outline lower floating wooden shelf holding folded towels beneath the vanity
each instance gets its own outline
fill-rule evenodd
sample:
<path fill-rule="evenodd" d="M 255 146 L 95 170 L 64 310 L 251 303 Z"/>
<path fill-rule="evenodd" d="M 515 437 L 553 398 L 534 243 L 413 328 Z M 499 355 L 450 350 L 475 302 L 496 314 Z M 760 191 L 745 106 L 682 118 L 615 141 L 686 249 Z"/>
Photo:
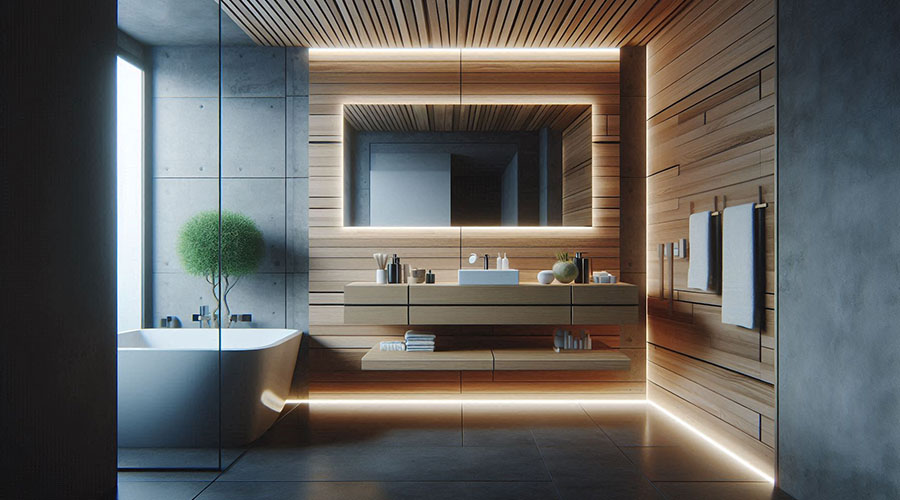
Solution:
<path fill-rule="evenodd" d="M 382 351 L 362 358 L 363 370 L 628 370 L 631 359 L 615 350 L 472 349 L 435 352 Z"/>

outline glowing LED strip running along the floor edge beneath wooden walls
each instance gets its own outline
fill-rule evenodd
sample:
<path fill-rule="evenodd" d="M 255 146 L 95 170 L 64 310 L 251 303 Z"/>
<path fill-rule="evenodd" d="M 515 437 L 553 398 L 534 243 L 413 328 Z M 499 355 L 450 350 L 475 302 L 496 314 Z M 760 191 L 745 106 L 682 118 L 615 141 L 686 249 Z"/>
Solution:
<path fill-rule="evenodd" d="M 648 401 L 646 399 L 288 399 L 287 404 L 308 404 L 310 406 L 351 406 L 351 405 L 458 405 L 458 404 L 491 404 L 491 405 L 560 405 L 560 404 L 601 404 L 610 406 L 626 406 L 626 405 L 647 405 L 653 406 L 667 417 L 678 422 L 697 435 L 700 439 L 706 441 L 713 448 L 731 457 L 735 462 L 746 467 L 754 474 L 769 482 L 775 484 L 775 478 L 753 466 L 747 460 L 741 458 L 738 454 L 721 445 L 718 441 L 707 436 L 702 431 L 685 422 L 681 418 L 675 416 L 669 410 L 662 406 Z"/>

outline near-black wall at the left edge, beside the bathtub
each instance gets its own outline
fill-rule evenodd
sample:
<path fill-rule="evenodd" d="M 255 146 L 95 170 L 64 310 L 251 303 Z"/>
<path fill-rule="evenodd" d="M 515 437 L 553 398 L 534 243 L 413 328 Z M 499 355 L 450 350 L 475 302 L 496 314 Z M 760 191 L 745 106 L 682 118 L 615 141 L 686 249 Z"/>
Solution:
<path fill-rule="evenodd" d="M 0 33 L 0 498 L 114 498 L 116 2 Z"/>

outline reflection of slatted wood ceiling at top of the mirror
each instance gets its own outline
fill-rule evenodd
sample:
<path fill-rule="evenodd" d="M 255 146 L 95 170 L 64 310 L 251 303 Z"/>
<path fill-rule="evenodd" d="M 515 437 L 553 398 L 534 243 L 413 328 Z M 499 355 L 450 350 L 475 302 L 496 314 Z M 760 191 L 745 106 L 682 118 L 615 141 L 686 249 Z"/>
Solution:
<path fill-rule="evenodd" d="M 474 132 L 562 131 L 589 105 L 348 104 L 344 118 L 359 131 Z"/>

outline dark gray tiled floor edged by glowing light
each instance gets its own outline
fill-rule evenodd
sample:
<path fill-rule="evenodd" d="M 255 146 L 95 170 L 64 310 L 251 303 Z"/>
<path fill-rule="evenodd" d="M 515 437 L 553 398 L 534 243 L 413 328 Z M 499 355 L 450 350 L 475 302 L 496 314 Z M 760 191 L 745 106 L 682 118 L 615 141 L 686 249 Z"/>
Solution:
<path fill-rule="evenodd" d="M 643 404 L 313 402 L 222 473 L 122 472 L 119 498 L 788 497 Z"/>

